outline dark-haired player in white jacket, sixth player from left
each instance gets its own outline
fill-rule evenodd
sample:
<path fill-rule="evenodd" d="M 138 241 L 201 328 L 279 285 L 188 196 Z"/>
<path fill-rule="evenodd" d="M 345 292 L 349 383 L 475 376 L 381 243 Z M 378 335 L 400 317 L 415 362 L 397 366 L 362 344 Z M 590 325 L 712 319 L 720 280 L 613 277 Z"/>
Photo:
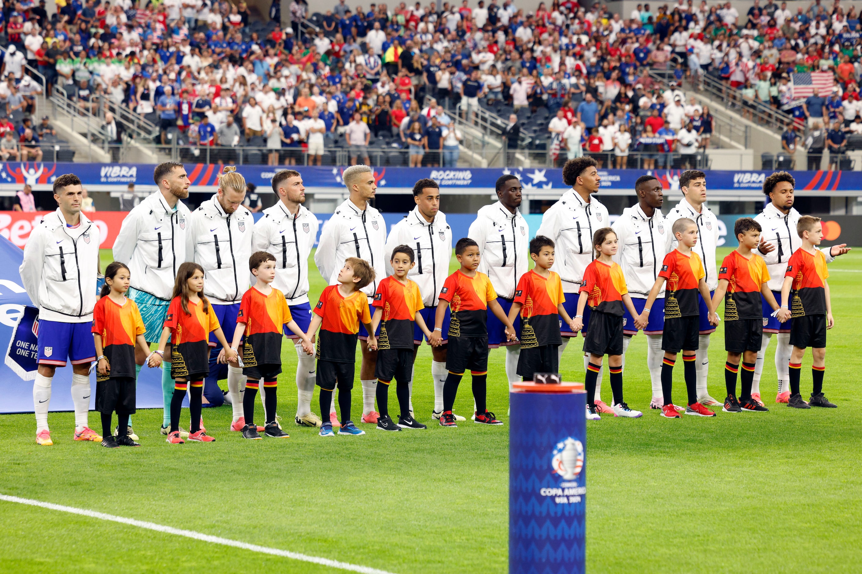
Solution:
<path fill-rule="evenodd" d="M 386 274 L 392 274 L 390 259 L 392 250 L 400 245 L 409 245 L 414 249 L 415 266 L 407 272 L 407 277 L 417 285 L 422 293 L 422 317 L 426 324 L 434 325 L 437 312 L 437 297 L 440 289 L 449 276 L 449 259 L 452 259 L 452 229 L 446 222 L 446 215 L 440 211 L 440 186 L 434 179 L 420 179 L 413 186 L 413 199 L 416 207 L 403 220 L 398 221 L 390 229 L 386 237 L 384 255 L 386 256 Z M 440 418 L 443 412 L 443 384 L 446 383 L 447 340 L 449 337 L 449 309 L 442 326 L 443 345 L 431 347 L 431 378 L 434 381 L 434 410 L 431 416 Z M 418 326 L 413 333 L 413 358 L 415 375 L 415 355 L 422 344 L 422 329 Z M 410 396 L 413 396 L 413 381 L 410 384 Z M 410 403 L 410 410 L 413 404 Z M 455 415 L 459 421 L 464 417 Z"/>

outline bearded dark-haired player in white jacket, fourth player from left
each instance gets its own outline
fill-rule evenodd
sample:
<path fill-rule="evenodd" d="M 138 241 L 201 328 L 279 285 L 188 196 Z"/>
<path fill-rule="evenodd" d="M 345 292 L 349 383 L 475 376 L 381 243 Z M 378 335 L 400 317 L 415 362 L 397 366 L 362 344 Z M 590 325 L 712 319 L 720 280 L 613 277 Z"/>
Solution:
<path fill-rule="evenodd" d="M 272 191 L 278 197 L 278 203 L 264 209 L 264 216 L 254 225 L 253 251 L 265 251 L 275 256 L 272 286 L 284 293 L 290 315 L 306 332 L 311 322 L 308 260 L 317 238 L 317 215 L 303 206 L 305 186 L 299 172 L 276 172 L 272 176 Z M 322 420 L 311 412 L 311 399 L 317 382 L 315 357 L 305 354 L 302 343 L 292 331 L 285 328 L 284 336 L 293 340 L 298 358 L 297 415 L 294 420 L 303 427 L 320 427 Z"/>

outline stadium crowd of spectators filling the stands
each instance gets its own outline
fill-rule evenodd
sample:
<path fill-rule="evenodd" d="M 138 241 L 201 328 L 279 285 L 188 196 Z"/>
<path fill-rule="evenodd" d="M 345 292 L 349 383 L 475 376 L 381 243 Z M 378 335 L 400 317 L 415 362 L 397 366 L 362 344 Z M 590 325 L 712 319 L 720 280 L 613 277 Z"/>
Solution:
<path fill-rule="evenodd" d="M 28 64 L 48 90 L 62 88 L 84 109 L 107 98 L 147 117 L 162 144 L 173 132 L 191 146 L 265 147 L 273 165 L 295 164 L 303 153 L 320 164 L 332 147 L 347 148 L 351 163 L 368 159 L 369 147 L 394 147 L 409 149 L 410 165 L 457 165 L 462 134 L 452 115 L 469 119 L 480 105 L 514 113 L 522 125 L 528 116 L 550 118 L 528 135 L 534 144 L 550 137 L 554 158 L 590 153 L 620 167 L 633 151 L 648 168 L 666 165 L 672 152 L 693 165 L 713 121 L 678 84 L 704 74 L 727 84 L 748 114 L 759 102 L 809 128 L 828 122 L 824 148 L 840 140 L 829 132 L 849 131 L 862 115 L 862 28 L 855 7 L 840 0 L 815 0 L 796 14 L 786 3 L 755 0 L 744 15 L 706 0 L 644 3 L 628 15 L 572 0 L 539 3 L 535 12 L 512 0 L 472 9 L 466 1 L 338 0 L 325 13 L 293 0 L 285 29 L 278 0 L 270 15 L 278 17 L 266 25 L 243 2 L 57 6 L 50 18 L 44 0 L 3 7 L 2 74 L 13 77 L 0 83 L 7 114 L 28 105 L 18 93 L 36 84 L 21 87 Z M 669 89 L 650 68 L 665 71 Z M 790 74 L 805 72 L 832 72 L 833 93 L 795 100 Z M 785 137 L 791 149 L 796 139 Z"/>

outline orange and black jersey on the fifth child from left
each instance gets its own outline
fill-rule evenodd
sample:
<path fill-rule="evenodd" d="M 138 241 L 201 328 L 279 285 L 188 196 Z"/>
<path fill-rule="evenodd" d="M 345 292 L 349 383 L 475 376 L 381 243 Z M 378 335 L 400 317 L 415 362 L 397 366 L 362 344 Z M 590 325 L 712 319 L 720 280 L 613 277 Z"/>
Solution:
<path fill-rule="evenodd" d="M 412 349 L 416 312 L 425 308 L 419 285 L 409 279 L 405 285 L 390 275 L 378 284 L 372 304 L 383 309 L 378 349 Z"/>

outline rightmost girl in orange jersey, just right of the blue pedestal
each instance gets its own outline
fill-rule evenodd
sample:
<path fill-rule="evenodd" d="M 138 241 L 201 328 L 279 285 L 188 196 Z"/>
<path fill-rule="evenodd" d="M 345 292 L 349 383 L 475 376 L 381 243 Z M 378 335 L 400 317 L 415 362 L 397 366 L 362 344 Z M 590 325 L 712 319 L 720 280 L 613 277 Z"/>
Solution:
<path fill-rule="evenodd" d="M 584 308 L 590 305 L 590 330 L 584 337 L 584 353 L 590 354 L 584 385 L 587 390 L 588 421 L 602 418 L 596 409 L 596 380 L 604 355 L 608 355 L 610 388 L 614 393 L 611 409 L 614 409 L 614 415 L 634 419 L 643 415 L 639 410 L 629 409 L 622 399 L 623 305 L 633 317 L 640 315 L 634 309 L 632 298 L 628 296 L 622 267 L 611 259 L 616 254 L 617 242 L 616 234 L 611 228 L 597 229 L 593 234 L 596 259 L 584 270 L 584 281 L 581 283 L 578 298 L 578 315 L 575 315 L 572 321 L 572 331 L 584 328 Z M 641 328 L 646 322 L 642 325 L 640 321 L 635 324 Z"/>

